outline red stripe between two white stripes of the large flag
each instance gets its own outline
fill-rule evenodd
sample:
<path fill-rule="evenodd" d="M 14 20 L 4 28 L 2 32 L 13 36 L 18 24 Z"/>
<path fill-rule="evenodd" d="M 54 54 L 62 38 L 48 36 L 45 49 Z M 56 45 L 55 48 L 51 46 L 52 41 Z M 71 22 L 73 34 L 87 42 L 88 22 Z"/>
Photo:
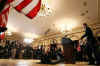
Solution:
<path fill-rule="evenodd" d="M 32 0 L 24 0 L 23 2 L 21 2 L 19 5 L 17 5 L 15 7 L 15 9 L 17 9 L 19 12 L 22 11 L 23 8 L 29 6 L 29 4 L 31 4 Z M 33 5 L 33 4 L 32 4 Z"/>

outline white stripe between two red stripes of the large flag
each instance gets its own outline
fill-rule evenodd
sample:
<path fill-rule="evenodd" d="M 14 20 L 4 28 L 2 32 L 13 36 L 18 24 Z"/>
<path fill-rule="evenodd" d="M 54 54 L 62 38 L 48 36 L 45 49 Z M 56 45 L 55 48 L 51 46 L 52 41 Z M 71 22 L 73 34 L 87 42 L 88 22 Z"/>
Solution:
<path fill-rule="evenodd" d="M 37 4 L 39 3 L 39 0 L 33 0 L 28 6 L 26 6 L 22 12 L 24 14 L 28 14 L 34 7 L 37 6 Z"/>

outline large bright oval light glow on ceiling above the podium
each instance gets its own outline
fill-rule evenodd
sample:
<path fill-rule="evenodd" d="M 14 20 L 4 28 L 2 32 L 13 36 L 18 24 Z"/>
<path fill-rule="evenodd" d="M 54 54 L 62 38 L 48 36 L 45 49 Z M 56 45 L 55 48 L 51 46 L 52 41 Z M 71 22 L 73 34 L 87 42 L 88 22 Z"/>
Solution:
<path fill-rule="evenodd" d="M 73 28 L 77 27 L 77 21 L 74 19 L 62 19 L 57 21 L 56 27 L 61 31 L 71 31 Z"/>

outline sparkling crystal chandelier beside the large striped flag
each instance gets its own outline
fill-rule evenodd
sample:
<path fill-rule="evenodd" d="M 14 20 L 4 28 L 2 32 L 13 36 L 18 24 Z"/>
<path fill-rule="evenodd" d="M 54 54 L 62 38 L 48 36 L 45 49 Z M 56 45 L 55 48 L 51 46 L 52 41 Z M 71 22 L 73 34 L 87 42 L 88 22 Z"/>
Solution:
<path fill-rule="evenodd" d="M 38 16 L 50 16 L 51 13 L 52 13 L 52 9 L 48 5 L 48 1 L 47 0 L 42 0 L 41 8 L 40 8 L 40 11 L 38 13 Z"/>

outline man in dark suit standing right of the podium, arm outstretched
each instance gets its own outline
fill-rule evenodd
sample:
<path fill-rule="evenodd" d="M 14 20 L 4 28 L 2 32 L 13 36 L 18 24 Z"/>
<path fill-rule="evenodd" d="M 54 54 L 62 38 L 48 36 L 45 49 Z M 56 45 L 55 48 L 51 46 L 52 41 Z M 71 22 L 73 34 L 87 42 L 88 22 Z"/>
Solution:
<path fill-rule="evenodd" d="M 87 37 L 86 50 L 87 50 L 87 55 L 89 58 L 89 64 L 92 65 L 92 64 L 95 64 L 95 58 L 93 57 L 92 53 L 95 54 L 96 40 L 93 36 L 93 32 L 91 28 L 86 23 L 83 24 L 83 27 L 85 29 L 85 34 L 81 37 L 81 39 L 83 39 L 84 37 Z"/>

